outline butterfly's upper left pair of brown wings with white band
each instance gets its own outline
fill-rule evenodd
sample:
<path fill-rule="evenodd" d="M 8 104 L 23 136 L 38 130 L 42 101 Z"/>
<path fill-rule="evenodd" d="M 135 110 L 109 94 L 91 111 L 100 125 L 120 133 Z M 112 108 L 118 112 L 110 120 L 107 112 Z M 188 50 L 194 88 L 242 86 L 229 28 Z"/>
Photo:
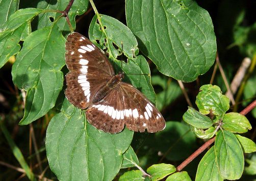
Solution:
<path fill-rule="evenodd" d="M 70 70 L 65 95 L 74 106 L 86 109 L 114 75 L 113 67 L 101 50 L 79 33 L 68 35 L 65 60 Z"/>

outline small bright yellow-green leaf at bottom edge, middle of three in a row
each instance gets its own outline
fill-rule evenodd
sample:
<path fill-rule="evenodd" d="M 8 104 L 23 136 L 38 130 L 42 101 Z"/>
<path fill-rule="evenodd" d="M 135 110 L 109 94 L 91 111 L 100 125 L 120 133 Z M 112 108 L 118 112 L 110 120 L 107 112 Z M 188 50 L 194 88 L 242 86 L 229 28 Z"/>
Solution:
<path fill-rule="evenodd" d="M 174 173 L 176 168 L 170 164 L 155 164 L 147 168 L 147 173 L 151 175 L 151 180 L 161 180 L 167 175 Z"/>

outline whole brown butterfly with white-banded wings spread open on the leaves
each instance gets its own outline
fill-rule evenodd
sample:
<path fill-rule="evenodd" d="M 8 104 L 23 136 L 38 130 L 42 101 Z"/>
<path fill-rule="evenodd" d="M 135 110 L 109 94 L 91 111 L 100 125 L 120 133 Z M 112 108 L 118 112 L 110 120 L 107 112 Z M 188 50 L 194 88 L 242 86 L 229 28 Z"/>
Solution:
<path fill-rule="evenodd" d="M 165 120 L 155 106 L 131 84 L 121 82 L 103 51 L 79 33 L 66 41 L 65 95 L 75 107 L 86 110 L 86 119 L 98 130 L 119 133 L 124 125 L 135 132 L 164 129 Z"/>

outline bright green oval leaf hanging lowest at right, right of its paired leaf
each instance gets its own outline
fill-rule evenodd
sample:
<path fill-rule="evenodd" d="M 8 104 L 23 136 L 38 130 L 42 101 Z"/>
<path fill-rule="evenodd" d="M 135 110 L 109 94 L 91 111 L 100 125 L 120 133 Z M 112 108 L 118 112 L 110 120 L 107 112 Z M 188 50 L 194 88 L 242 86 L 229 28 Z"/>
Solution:
<path fill-rule="evenodd" d="M 236 136 L 219 131 L 215 140 L 215 154 L 219 173 L 223 179 L 239 179 L 244 170 L 244 155 Z"/>

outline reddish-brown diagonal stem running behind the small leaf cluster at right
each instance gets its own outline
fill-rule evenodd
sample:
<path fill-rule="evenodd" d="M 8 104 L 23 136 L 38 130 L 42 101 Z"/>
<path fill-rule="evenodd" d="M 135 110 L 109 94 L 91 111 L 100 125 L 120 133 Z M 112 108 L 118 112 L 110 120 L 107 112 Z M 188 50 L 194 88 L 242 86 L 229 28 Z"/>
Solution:
<path fill-rule="evenodd" d="M 253 108 L 256 107 L 256 100 L 254 100 L 249 106 L 247 106 L 243 111 L 240 112 L 242 115 L 246 115 L 248 112 L 250 112 Z M 206 143 L 204 143 L 200 148 L 198 148 L 194 153 L 191 154 L 184 162 L 181 163 L 181 165 L 177 166 L 176 170 L 180 172 L 184 167 L 186 167 L 192 160 L 194 160 L 201 152 L 206 150 L 208 146 L 210 146 L 215 140 L 214 138 L 211 138 Z"/>

